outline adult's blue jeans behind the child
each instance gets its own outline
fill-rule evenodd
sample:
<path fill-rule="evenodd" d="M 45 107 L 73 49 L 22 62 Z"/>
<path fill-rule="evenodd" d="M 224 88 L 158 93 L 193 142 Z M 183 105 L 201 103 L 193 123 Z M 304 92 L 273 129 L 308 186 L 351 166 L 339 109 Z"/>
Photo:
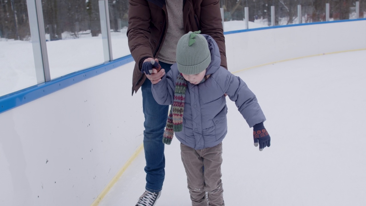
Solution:
<path fill-rule="evenodd" d="M 171 64 L 159 62 L 161 68 L 168 73 Z M 143 126 L 143 147 L 145 150 L 145 172 L 146 172 L 146 190 L 150 192 L 159 192 L 163 188 L 165 176 L 165 157 L 163 134 L 167 124 L 168 105 L 158 104 L 151 92 L 151 82 L 146 79 L 141 86 L 142 108 L 145 115 Z"/>

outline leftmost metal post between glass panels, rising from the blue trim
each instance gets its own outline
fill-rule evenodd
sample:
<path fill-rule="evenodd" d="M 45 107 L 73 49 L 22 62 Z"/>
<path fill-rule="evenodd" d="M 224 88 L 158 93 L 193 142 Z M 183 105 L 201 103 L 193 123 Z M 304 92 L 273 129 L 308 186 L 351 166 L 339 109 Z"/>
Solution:
<path fill-rule="evenodd" d="M 41 0 L 27 0 L 27 10 L 37 83 L 51 80 Z"/>

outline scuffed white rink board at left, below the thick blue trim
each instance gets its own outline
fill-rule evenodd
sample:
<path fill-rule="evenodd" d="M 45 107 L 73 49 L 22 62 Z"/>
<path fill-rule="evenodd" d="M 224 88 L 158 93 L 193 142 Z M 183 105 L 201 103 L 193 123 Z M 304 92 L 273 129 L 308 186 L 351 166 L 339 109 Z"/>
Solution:
<path fill-rule="evenodd" d="M 0 205 L 94 201 L 142 143 L 141 92 L 131 96 L 133 66 L 0 114 Z"/>

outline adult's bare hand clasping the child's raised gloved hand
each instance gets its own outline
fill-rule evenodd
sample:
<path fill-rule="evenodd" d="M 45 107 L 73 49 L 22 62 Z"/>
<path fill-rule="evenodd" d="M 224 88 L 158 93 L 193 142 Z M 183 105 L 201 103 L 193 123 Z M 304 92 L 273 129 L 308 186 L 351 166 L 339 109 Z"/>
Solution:
<path fill-rule="evenodd" d="M 158 71 L 159 68 L 158 59 L 147 58 L 142 63 L 141 72 L 145 73 L 146 77 L 151 81 L 151 84 L 156 84 L 161 80 L 161 77 L 165 75 L 165 69 Z"/>

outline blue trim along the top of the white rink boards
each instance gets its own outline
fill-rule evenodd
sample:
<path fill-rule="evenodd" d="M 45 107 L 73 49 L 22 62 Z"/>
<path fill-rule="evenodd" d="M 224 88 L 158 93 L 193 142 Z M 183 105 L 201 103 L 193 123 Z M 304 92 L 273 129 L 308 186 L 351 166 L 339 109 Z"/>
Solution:
<path fill-rule="evenodd" d="M 331 22 L 313 22 L 313 23 L 302 23 L 302 24 L 293 24 L 293 25 L 283 25 L 283 26 L 268 26 L 268 27 L 260 27 L 255 29 L 243 29 L 236 31 L 224 32 L 224 34 L 235 34 L 242 32 L 251 32 L 265 29 L 277 29 L 284 27 L 292 27 L 292 26 L 306 26 L 306 25 L 316 25 L 323 23 L 338 23 L 338 22 L 350 22 L 350 21 L 365 21 L 366 18 L 363 19 L 348 19 L 348 20 L 339 20 L 339 21 L 331 21 Z M 44 82 L 32 87 L 28 87 L 4 96 L 0 96 L 0 113 L 4 111 L 10 110 L 12 108 L 18 107 L 22 104 L 26 104 L 42 96 L 46 96 L 50 93 L 59 91 L 60 89 L 66 88 L 75 83 L 86 80 L 87 78 L 97 76 L 98 74 L 104 73 L 106 71 L 115 69 L 119 66 L 125 65 L 127 63 L 133 62 L 134 59 L 131 55 L 127 55 L 118 59 L 115 59 L 111 62 L 103 63 L 101 65 L 93 66 L 87 69 L 83 69 L 80 71 L 76 71 L 74 73 L 67 74 L 62 77 L 55 78 L 51 81 Z"/>

